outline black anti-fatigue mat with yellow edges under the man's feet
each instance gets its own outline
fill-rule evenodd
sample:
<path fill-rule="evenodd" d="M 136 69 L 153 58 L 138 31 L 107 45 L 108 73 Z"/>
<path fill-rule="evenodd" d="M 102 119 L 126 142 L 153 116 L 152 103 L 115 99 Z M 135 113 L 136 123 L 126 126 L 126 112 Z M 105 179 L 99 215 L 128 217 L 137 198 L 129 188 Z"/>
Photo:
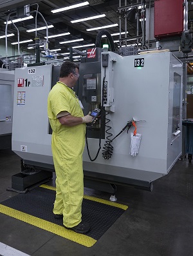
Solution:
<path fill-rule="evenodd" d="M 52 233 L 57 233 L 57 235 L 62 233 L 62 237 L 90 247 L 127 209 L 127 206 L 123 204 L 85 196 L 82 202 L 82 221 L 89 222 L 91 230 L 86 235 L 80 235 L 71 230 L 66 230 L 62 226 L 62 219 L 53 217 L 54 201 L 55 188 L 42 185 L 42 187 L 35 188 L 28 193 L 15 195 L 15 197 L 1 202 L 0 212 Z M 11 214 L 9 214 L 10 211 Z M 24 219 L 22 219 L 22 215 L 24 215 Z M 18 216 L 20 217 L 18 218 Z M 51 228 L 51 224 L 55 228 Z M 60 232 L 54 230 L 60 230 Z M 67 235 L 65 235 L 66 233 Z M 84 242 L 84 238 L 86 238 L 86 242 Z"/>

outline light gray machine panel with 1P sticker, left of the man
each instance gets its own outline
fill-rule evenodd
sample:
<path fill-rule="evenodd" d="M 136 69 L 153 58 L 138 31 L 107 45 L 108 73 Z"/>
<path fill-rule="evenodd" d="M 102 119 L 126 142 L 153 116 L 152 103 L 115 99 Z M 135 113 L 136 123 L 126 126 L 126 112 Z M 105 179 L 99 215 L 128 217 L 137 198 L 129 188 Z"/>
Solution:
<path fill-rule="evenodd" d="M 51 65 L 15 70 L 12 150 L 23 159 L 53 162 L 47 114 L 51 70 Z"/>

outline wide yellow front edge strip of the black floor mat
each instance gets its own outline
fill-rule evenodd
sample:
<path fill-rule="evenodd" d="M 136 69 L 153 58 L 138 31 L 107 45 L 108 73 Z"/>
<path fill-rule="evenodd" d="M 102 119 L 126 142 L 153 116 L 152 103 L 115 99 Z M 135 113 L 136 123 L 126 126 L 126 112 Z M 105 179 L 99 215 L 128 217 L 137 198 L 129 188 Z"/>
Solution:
<path fill-rule="evenodd" d="M 44 221 L 42 219 L 39 219 L 39 218 L 29 215 L 27 213 L 23 213 L 23 212 L 14 210 L 14 209 L 4 206 L 2 204 L 0 204 L 0 212 L 4 213 L 10 217 L 13 217 L 15 219 L 19 219 L 20 221 L 24 221 L 33 226 L 37 226 L 38 228 L 41 228 L 42 230 L 50 231 L 51 233 L 59 235 L 60 237 L 64 237 L 71 241 L 77 242 L 78 244 L 82 244 L 86 247 L 91 247 L 96 242 L 95 239 L 93 239 L 91 237 L 87 237 L 87 235 L 82 235 L 82 234 L 75 233 L 74 231 L 71 231 L 71 230 L 66 230 L 62 226 L 51 223 L 49 221 Z"/>

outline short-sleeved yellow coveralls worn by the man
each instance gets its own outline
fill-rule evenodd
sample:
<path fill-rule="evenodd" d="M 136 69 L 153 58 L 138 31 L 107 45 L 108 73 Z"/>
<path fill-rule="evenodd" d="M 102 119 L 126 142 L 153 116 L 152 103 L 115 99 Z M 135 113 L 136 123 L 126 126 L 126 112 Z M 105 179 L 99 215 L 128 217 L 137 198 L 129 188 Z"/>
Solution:
<path fill-rule="evenodd" d="M 56 198 L 54 214 L 63 214 L 63 224 L 72 228 L 81 222 L 84 182 L 82 153 L 85 145 L 85 124 L 65 126 L 57 114 L 67 111 L 83 117 L 75 92 L 64 83 L 57 82 L 48 95 L 48 117 L 53 130 L 51 150 L 56 172 Z"/>

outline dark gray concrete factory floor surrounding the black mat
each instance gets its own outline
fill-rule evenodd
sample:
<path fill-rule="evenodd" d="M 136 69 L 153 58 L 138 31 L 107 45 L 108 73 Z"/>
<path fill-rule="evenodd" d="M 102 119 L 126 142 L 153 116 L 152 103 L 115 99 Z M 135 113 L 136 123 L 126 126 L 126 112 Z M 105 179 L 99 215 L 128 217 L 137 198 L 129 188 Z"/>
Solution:
<path fill-rule="evenodd" d="M 11 150 L 0 150 L 0 163 L 2 202 L 17 195 L 6 188 L 11 187 L 12 175 L 20 172 L 20 159 Z M 152 192 L 118 186 L 117 202 L 129 208 L 90 248 L 0 213 L 0 255 L 191 256 L 192 166 L 178 160 L 168 175 L 154 181 Z M 48 184 L 55 184 L 54 177 Z M 87 188 L 85 193 L 106 200 L 110 196 Z"/>

